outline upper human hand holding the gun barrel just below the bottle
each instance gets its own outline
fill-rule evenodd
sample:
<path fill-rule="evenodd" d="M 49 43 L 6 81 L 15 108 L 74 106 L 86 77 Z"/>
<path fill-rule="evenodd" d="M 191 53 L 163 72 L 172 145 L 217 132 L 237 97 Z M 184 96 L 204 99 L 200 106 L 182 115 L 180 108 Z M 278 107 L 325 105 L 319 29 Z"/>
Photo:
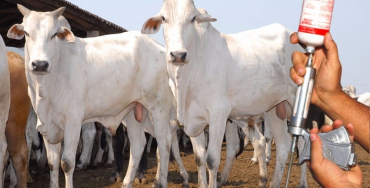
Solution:
<path fill-rule="evenodd" d="M 297 33 L 290 36 L 290 43 L 299 43 Z M 306 45 L 299 43 L 302 48 Z M 303 76 L 306 73 L 307 55 L 302 52 L 293 52 L 293 67 L 290 68 L 290 78 L 297 84 L 302 85 Z M 313 67 L 316 68 L 316 81 L 313 87 L 311 103 L 322 109 L 326 103 L 336 99 L 336 96 L 344 94 L 341 90 L 341 62 L 339 62 L 338 49 L 328 32 L 325 34 L 324 46 L 317 47 L 313 55 Z"/>

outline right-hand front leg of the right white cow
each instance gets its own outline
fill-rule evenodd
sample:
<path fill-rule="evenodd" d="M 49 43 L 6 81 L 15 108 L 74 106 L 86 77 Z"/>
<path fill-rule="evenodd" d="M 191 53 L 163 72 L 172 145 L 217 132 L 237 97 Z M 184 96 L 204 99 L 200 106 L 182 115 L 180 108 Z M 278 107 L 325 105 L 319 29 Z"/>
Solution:
<path fill-rule="evenodd" d="M 215 113 L 217 114 L 217 113 Z M 212 115 L 211 115 L 212 117 Z M 209 142 L 206 154 L 206 164 L 209 172 L 209 187 L 217 185 L 223 135 L 225 134 L 228 116 L 217 115 L 209 120 Z"/>

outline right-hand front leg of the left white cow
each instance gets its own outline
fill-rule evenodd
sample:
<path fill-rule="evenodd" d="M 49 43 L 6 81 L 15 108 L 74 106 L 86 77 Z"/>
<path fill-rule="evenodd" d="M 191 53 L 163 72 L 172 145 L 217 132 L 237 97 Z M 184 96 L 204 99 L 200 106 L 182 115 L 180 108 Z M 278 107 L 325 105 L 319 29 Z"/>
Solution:
<path fill-rule="evenodd" d="M 64 151 L 61 157 L 61 168 L 66 178 L 66 188 L 73 187 L 73 171 L 77 145 L 80 140 L 81 121 L 67 123 L 64 132 Z"/>

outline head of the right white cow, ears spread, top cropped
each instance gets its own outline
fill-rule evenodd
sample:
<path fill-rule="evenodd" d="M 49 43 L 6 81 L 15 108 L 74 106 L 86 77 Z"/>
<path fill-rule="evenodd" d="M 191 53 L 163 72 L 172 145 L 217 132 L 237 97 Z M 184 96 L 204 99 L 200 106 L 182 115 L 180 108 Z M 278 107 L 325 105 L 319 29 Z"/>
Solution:
<path fill-rule="evenodd" d="M 205 10 L 197 9 L 191 0 L 165 0 L 161 11 L 142 26 L 142 34 L 155 34 L 163 24 L 167 46 L 167 61 L 173 64 L 188 62 L 188 49 L 194 41 L 195 24 L 214 22 Z"/>

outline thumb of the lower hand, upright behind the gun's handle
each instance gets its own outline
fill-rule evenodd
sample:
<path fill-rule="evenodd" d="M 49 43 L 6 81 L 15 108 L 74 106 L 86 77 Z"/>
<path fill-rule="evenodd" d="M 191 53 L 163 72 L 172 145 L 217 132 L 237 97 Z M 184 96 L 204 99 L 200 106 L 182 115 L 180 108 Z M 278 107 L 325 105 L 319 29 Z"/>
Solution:
<path fill-rule="evenodd" d="M 323 164 L 324 156 L 323 156 L 323 143 L 318 137 L 317 133 L 310 134 L 311 140 L 311 168 L 318 169 L 321 168 L 321 164 Z"/>

